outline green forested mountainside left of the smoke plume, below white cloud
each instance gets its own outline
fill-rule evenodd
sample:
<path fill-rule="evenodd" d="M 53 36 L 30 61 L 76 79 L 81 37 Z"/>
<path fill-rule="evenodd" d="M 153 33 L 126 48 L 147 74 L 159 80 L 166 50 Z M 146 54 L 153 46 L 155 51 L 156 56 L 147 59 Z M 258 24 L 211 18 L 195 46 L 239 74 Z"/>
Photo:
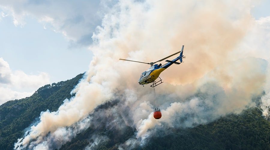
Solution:
<path fill-rule="evenodd" d="M 13 149 L 14 143 L 24 135 L 42 111 L 56 111 L 63 100 L 70 98 L 70 91 L 78 84 L 83 74 L 75 78 L 44 85 L 32 96 L 8 101 L 0 106 L 0 149 Z"/>

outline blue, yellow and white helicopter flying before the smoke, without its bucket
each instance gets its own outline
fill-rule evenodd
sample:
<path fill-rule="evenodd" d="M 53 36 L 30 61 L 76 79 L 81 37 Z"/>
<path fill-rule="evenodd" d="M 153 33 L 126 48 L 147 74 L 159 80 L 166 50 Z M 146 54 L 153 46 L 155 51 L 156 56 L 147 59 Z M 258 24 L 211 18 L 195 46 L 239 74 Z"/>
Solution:
<path fill-rule="evenodd" d="M 151 67 L 148 68 L 148 70 L 144 71 L 141 74 L 140 79 L 139 79 L 138 82 L 139 82 L 140 85 L 143 85 L 143 86 L 145 84 L 152 83 L 152 85 L 150 85 L 150 86 L 151 87 L 155 87 L 155 86 L 163 83 L 162 82 L 162 79 L 159 77 L 159 75 L 160 75 L 160 73 L 162 71 L 164 71 L 165 69 L 167 69 L 168 67 L 170 67 L 172 64 L 181 64 L 183 62 L 182 58 L 185 58 L 185 56 L 183 56 L 183 50 L 184 50 L 184 45 L 182 46 L 181 51 L 176 52 L 176 53 L 174 53 L 174 54 L 172 54 L 170 56 L 167 56 L 167 57 L 165 57 L 165 58 L 163 58 L 161 60 L 158 60 L 158 61 L 155 61 L 155 62 L 149 62 L 149 63 L 147 63 L 147 62 L 141 62 L 141 61 L 133 61 L 133 60 L 121 59 L 121 58 L 119 60 L 133 61 L 133 62 L 139 62 L 139 63 L 144 63 L 144 64 L 150 64 Z M 180 53 L 180 55 L 177 58 L 175 58 L 173 60 L 166 60 L 167 63 L 164 64 L 164 65 L 162 65 L 162 64 L 155 64 L 155 63 L 157 63 L 159 61 L 163 61 L 163 60 L 165 60 L 165 59 L 167 59 L 167 58 L 169 58 L 169 57 L 171 57 L 173 55 L 176 55 L 178 53 Z M 180 62 L 176 62 L 178 60 Z M 156 79 L 158 79 L 158 80 L 155 81 Z"/>

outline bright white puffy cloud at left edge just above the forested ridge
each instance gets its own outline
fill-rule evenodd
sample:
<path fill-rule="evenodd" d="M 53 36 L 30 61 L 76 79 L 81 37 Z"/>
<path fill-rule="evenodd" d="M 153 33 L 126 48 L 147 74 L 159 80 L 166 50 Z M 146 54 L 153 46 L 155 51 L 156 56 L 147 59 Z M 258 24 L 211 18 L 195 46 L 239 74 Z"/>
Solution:
<path fill-rule="evenodd" d="M 35 90 L 49 82 L 47 73 L 28 75 L 21 70 L 12 71 L 7 61 L 0 58 L 0 104 L 31 96 Z"/>

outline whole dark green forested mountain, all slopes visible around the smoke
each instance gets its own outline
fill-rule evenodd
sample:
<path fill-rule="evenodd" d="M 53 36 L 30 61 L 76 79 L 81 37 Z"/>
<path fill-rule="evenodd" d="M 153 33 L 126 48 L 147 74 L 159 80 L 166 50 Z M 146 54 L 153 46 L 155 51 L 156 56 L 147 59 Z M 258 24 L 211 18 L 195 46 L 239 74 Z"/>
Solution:
<path fill-rule="evenodd" d="M 0 149 L 13 149 L 25 129 L 37 122 L 42 111 L 56 111 L 63 100 L 70 98 L 70 91 L 83 74 L 75 78 L 45 85 L 32 96 L 8 101 L 0 106 Z M 136 139 L 136 128 L 128 125 L 123 112 L 104 115 L 119 100 L 109 101 L 89 114 L 96 124 L 75 135 L 60 149 L 118 149 L 128 139 Z M 130 120 L 131 124 L 132 120 Z M 121 128 L 119 128 L 121 126 Z M 161 127 L 162 128 L 162 127 Z M 96 140 L 99 140 L 97 143 Z M 143 145 L 134 143 L 133 149 L 270 149 L 270 122 L 262 111 L 249 108 L 241 114 L 228 114 L 214 122 L 194 128 L 168 128 L 160 130 L 145 140 Z"/>

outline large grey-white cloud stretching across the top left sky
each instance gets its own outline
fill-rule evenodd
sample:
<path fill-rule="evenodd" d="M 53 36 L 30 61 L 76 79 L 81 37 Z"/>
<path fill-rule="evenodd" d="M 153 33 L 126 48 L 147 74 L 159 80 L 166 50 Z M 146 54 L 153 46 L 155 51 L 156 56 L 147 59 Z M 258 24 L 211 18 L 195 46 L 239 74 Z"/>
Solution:
<path fill-rule="evenodd" d="M 34 16 L 55 32 L 62 33 L 71 44 L 91 44 L 92 33 L 101 23 L 100 1 L 1 1 L 3 13 L 13 17 L 15 26 L 24 26 L 25 16 Z"/>

